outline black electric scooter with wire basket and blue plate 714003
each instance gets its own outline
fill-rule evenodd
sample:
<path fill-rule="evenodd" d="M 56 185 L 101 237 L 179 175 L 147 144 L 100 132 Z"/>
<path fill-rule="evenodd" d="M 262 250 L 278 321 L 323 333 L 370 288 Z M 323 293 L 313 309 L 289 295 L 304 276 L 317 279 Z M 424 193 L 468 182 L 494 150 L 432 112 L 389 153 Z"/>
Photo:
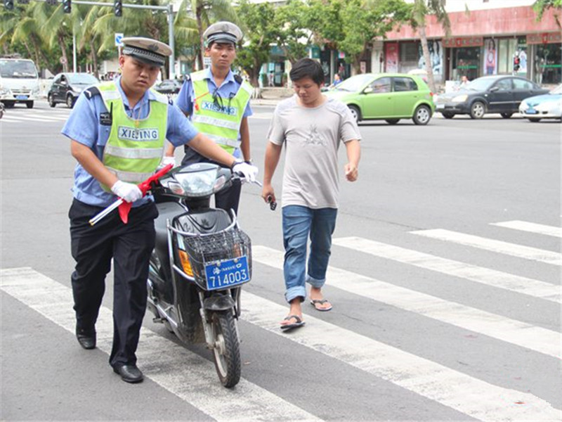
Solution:
<path fill-rule="evenodd" d="M 209 203 L 237 178 L 218 165 L 198 163 L 159 179 L 152 188 L 159 217 L 148 275 L 154 321 L 184 343 L 207 343 L 228 388 L 240 381 L 237 320 L 242 285 L 251 279 L 251 242 L 235 212 Z"/>

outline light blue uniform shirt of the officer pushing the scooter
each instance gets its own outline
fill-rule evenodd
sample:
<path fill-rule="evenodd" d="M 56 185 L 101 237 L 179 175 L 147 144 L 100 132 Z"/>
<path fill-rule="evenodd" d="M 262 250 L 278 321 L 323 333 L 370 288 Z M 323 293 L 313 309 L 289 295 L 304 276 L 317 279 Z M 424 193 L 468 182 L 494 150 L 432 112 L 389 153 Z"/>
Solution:
<path fill-rule="evenodd" d="M 121 94 L 125 111 L 129 117 L 135 119 L 145 119 L 150 113 L 150 101 L 155 100 L 155 94 L 152 91 L 146 91 L 143 98 L 131 110 L 129 100 L 121 87 L 121 77 L 115 79 L 117 89 Z M 105 103 L 100 95 L 91 97 L 90 99 L 82 92 L 74 104 L 72 113 L 68 117 L 63 130 L 63 135 L 74 139 L 79 143 L 89 146 L 96 157 L 103 160 L 103 148 L 110 136 L 111 126 L 100 123 L 100 113 L 107 113 Z M 188 143 L 199 132 L 185 118 L 181 110 L 176 106 L 168 105 L 168 124 L 166 129 L 166 139 L 174 146 L 181 146 Z M 117 196 L 104 191 L 100 183 L 84 167 L 79 163 L 74 168 L 74 187 L 72 188 L 74 198 L 89 205 L 98 207 L 107 207 L 117 200 Z M 145 197 L 133 203 L 133 207 L 143 205 L 143 203 L 152 200 L 152 197 Z"/>

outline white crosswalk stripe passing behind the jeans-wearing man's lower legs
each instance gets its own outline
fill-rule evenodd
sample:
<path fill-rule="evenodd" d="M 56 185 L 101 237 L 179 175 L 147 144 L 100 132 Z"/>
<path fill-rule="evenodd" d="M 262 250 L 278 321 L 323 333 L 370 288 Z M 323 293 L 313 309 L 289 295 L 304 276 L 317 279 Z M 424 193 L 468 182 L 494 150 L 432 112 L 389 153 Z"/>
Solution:
<path fill-rule="evenodd" d="M 252 260 L 269 267 L 283 269 L 283 252 L 265 246 L 252 247 Z M 532 326 L 457 302 L 449 302 L 336 267 L 328 267 L 326 279 L 329 280 L 330 286 L 364 298 L 488 335 L 497 340 L 558 359 L 561 357 L 562 334 L 556 331 Z"/>

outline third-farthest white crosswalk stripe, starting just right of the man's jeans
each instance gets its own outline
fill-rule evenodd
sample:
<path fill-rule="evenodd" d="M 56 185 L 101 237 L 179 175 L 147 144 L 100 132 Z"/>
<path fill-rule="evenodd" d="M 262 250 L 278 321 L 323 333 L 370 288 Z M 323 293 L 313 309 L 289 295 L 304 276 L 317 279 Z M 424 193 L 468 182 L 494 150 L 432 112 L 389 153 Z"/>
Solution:
<path fill-rule="evenodd" d="M 358 252 L 367 253 L 376 257 L 385 258 L 414 265 L 415 267 L 429 269 L 441 274 L 459 277 L 462 279 L 475 281 L 487 286 L 503 288 L 511 290 L 515 293 L 534 296 L 552 302 L 562 303 L 562 292 L 560 286 L 544 283 L 535 279 L 528 279 L 514 274 L 496 271 L 476 265 L 465 264 L 446 258 L 437 257 L 424 252 L 417 252 L 400 248 L 399 246 L 388 245 L 386 243 L 370 241 L 369 239 L 359 237 L 334 238 L 334 245 L 344 248 L 351 248 Z"/>

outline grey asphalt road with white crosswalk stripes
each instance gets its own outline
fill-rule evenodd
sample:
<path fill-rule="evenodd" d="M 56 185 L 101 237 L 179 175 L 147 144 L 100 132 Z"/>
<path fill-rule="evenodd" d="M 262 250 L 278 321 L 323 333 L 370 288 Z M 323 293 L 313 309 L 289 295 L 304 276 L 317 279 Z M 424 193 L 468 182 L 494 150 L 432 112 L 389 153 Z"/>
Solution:
<path fill-rule="evenodd" d="M 273 108 L 254 113 L 263 167 Z M 561 421 L 559 122 L 360 124 L 360 179 L 341 181 L 325 288 L 334 309 L 306 304 L 307 325 L 291 334 L 277 328 L 280 208 L 244 186 L 254 278 L 242 296 L 243 380 L 226 390 L 204 347 L 183 347 L 148 314 L 145 382 L 120 381 L 107 364 L 111 277 L 98 349 L 77 344 L 67 115 L 37 103 L 0 120 L 0 419 Z M 340 161 L 343 176 L 344 148 Z"/>

